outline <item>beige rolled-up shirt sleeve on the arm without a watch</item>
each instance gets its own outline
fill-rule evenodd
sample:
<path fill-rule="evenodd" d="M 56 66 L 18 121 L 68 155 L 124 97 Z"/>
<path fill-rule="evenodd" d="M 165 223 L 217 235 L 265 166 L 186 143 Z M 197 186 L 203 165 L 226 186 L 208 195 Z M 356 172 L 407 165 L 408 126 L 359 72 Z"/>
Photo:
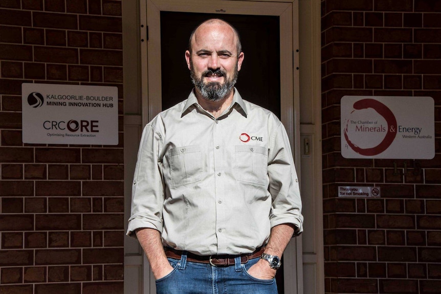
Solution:
<path fill-rule="evenodd" d="M 138 160 L 132 184 L 131 213 L 127 235 L 140 228 L 163 230 L 162 208 L 164 190 L 160 150 L 162 137 L 151 125 L 146 125 L 138 150 Z"/>

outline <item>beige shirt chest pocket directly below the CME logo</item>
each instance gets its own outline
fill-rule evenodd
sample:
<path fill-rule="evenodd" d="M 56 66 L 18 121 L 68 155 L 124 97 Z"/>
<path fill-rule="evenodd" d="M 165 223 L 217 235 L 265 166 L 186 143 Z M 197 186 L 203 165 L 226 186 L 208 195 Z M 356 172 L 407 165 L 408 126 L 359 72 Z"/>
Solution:
<path fill-rule="evenodd" d="M 265 185 L 267 183 L 267 148 L 260 146 L 235 146 L 236 179 L 243 182 Z"/>

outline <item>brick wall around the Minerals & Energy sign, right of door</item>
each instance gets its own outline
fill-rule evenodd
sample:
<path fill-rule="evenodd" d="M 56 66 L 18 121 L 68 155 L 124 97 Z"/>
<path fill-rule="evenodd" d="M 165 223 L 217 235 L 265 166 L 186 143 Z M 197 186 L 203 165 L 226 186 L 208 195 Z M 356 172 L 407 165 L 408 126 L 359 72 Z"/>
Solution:
<path fill-rule="evenodd" d="M 326 292 L 440 293 L 441 2 L 321 3 Z M 434 159 L 344 159 L 344 95 L 433 97 Z M 338 198 L 338 186 L 381 198 Z"/>

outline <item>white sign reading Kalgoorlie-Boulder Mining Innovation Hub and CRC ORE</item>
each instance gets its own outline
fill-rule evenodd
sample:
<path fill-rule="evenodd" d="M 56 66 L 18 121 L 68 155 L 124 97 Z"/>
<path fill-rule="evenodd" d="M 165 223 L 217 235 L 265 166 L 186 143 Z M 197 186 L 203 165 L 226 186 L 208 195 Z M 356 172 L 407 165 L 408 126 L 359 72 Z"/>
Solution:
<path fill-rule="evenodd" d="M 117 145 L 118 88 L 21 84 L 23 143 Z"/>

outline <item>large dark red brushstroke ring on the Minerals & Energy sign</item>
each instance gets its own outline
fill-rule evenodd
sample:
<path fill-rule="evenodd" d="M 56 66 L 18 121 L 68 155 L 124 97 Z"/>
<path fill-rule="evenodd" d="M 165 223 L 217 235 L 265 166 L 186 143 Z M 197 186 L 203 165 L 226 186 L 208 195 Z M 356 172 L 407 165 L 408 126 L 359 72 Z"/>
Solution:
<path fill-rule="evenodd" d="M 344 128 L 343 132 L 344 132 L 344 138 L 346 139 L 347 144 L 350 146 L 350 148 L 352 148 L 352 150 L 354 150 L 355 152 L 361 155 L 373 156 L 380 154 L 381 152 L 386 150 L 390 146 L 390 144 L 392 144 L 393 140 L 396 137 L 396 119 L 392 111 L 386 105 L 375 99 L 362 99 L 354 103 L 354 109 L 356 110 L 367 109 L 367 108 L 372 108 L 373 110 L 377 111 L 378 114 L 381 115 L 387 122 L 387 133 L 383 141 L 381 141 L 380 144 L 372 148 L 361 148 L 349 140 L 347 134 L 348 123 L 346 123 L 346 127 Z"/>

